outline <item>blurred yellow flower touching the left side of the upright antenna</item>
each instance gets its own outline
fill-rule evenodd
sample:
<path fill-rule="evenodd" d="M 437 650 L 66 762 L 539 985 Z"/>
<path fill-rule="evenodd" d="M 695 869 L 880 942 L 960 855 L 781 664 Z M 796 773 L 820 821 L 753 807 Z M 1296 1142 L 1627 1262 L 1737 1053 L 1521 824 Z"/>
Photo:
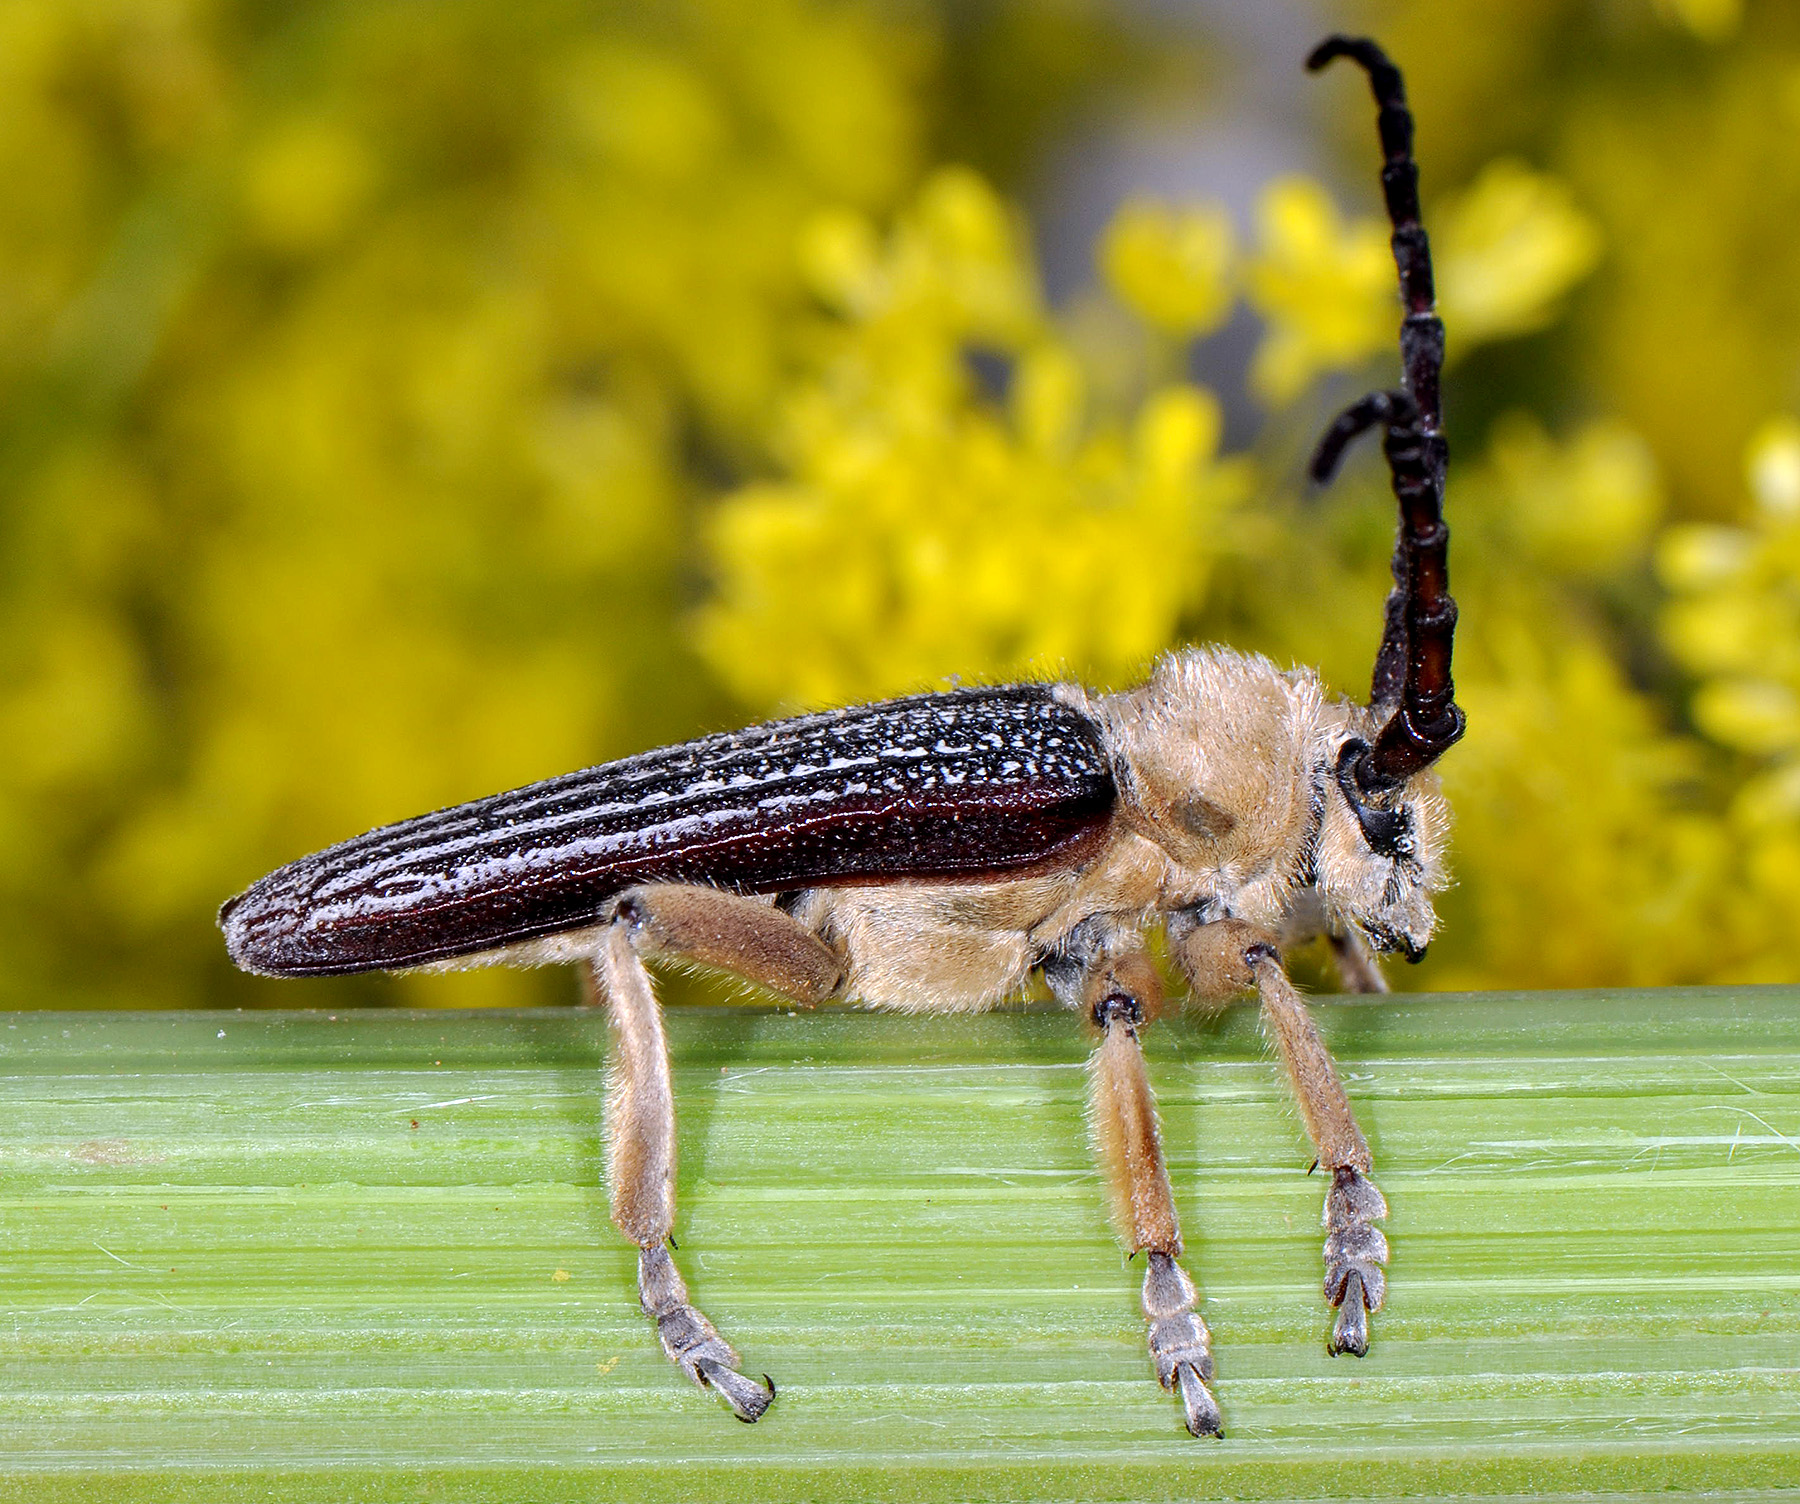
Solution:
<path fill-rule="evenodd" d="M 1267 322 L 1251 365 L 1264 401 L 1292 401 L 1314 376 L 1395 344 L 1393 257 L 1377 219 L 1346 223 L 1319 184 L 1278 178 L 1256 201 L 1256 241 L 1246 286 Z"/>

